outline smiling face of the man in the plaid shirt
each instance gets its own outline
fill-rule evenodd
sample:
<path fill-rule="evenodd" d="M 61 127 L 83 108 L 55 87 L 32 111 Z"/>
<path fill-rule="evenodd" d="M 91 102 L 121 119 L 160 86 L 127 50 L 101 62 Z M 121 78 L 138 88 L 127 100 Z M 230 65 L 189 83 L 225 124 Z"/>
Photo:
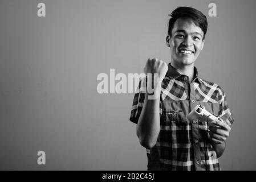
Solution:
<path fill-rule="evenodd" d="M 192 19 L 178 18 L 172 29 L 172 37 L 168 35 L 166 38 L 174 65 L 183 67 L 194 64 L 204 47 L 203 37 L 204 32 Z"/>

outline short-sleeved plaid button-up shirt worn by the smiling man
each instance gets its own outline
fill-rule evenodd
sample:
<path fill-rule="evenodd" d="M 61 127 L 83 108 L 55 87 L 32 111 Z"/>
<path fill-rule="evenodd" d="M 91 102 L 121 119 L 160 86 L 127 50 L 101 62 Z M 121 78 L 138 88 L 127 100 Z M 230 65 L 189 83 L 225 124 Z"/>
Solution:
<path fill-rule="evenodd" d="M 168 64 L 168 72 L 161 85 L 160 133 L 155 147 L 147 149 L 148 170 L 220 170 L 216 151 L 207 138 L 207 123 L 198 118 L 188 121 L 188 113 L 198 104 L 213 115 L 221 117 L 229 112 L 224 91 L 213 82 L 198 77 L 190 83 Z M 137 123 L 143 107 L 146 79 L 141 79 L 135 93 L 130 121 Z M 229 125 L 234 120 L 229 117 Z M 206 154 L 206 155 L 205 155 Z M 207 163 L 207 167 L 205 165 Z"/>

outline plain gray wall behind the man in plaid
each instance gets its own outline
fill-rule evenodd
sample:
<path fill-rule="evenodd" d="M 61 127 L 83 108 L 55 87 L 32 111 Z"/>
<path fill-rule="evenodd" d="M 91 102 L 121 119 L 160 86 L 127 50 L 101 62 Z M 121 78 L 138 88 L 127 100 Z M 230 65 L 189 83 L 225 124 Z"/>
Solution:
<path fill-rule="evenodd" d="M 217 17 L 208 16 L 210 2 Z M 133 94 L 98 94 L 96 77 L 110 68 L 141 73 L 148 57 L 169 63 L 168 14 L 184 5 L 208 16 L 196 67 L 225 90 L 235 120 L 221 168 L 255 170 L 253 0 L 1 0 L 0 169 L 147 169 L 129 122 Z"/>

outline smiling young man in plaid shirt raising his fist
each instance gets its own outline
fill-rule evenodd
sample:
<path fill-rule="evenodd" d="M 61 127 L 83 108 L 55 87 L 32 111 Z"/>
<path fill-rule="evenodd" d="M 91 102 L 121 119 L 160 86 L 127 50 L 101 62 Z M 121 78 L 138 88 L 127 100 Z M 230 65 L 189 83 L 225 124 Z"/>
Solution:
<path fill-rule="evenodd" d="M 159 75 L 153 86 L 161 92 L 149 99 L 152 93 L 147 92 L 147 79 L 142 79 L 130 120 L 137 123 L 137 136 L 147 148 L 148 170 L 220 170 L 217 158 L 225 150 L 233 118 L 222 88 L 202 80 L 194 67 L 204 47 L 208 22 L 191 7 L 178 7 L 170 16 L 166 44 L 171 61 L 167 65 L 148 59 L 144 68 L 146 74 Z M 189 121 L 188 113 L 199 104 L 222 122 Z"/>

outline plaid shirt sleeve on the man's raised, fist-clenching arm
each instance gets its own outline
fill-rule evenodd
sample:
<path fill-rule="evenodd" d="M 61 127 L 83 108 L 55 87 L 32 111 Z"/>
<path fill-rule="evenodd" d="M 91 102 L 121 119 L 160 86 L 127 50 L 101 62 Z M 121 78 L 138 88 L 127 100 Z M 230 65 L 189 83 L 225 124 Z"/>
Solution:
<path fill-rule="evenodd" d="M 146 88 L 147 88 L 147 77 L 141 78 L 139 82 L 139 86 L 137 87 L 137 90 L 135 92 L 135 96 L 133 98 L 133 103 L 132 103 L 132 110 L 131 110 L 131 115 L 129 120 L 133 123 L 138 123 L 141 110 L 143 109 L 143 104 L 145 100 L 145 95 L 146 95 Z M 161 97 L 160 97 L 161 99 Z M 160 118 L 162 114 L 162 104 L 160 100 Z"/>

